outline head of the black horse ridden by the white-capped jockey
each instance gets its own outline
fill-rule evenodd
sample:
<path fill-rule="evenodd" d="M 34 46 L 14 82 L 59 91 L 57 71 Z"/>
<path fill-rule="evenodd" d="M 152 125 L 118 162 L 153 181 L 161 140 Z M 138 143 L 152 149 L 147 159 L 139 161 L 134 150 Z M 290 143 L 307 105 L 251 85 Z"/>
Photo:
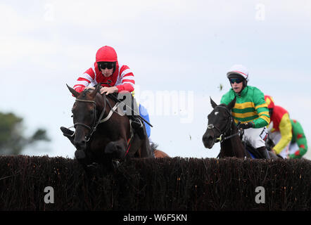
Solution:
<path fill-rule="evenodd" d="M 228 105 L 217 105 L 212 101 L 212 98 L 210 98 L 210 103 L 213 110 L 208 115 L 208 129 L 206 129 L 202 138 L 205 148 L 212 148 L 230 130 L 232 120 L 230 110 L 234 107 L 236 98 Z"/>

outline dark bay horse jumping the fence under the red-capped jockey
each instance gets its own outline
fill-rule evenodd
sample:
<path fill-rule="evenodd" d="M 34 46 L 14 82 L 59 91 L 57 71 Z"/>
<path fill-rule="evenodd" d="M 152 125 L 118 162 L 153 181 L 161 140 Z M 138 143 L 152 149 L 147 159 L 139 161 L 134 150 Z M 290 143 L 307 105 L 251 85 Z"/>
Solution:
<path fill-rule="evenodd" d="M 75 158 L 84 166 L 126 158 L 154 158 L 147 135 L 140 139 L 132 132 L 129 117 L 120 113 L 115 100 L 99 93 L 100 87 L 79 93 L 68 86 L 76 98 L 72 107 L 75 132 L 66 134 L 68 129 L 64 127 L 61 130 L 77 148 Z"/>

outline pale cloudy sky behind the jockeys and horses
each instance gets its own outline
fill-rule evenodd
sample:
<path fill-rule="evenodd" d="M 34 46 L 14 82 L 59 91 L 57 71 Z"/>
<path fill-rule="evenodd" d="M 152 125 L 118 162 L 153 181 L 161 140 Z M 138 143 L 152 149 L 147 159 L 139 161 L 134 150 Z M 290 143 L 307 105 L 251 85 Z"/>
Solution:
<path fill-rule="evenodd" d="M 303 124 L 310 143 L 310 11 L 308 0 L 1 0 L 0 110 L 24 117 L 25 134 L 48 130 L 51 143 L 25 154 L 72 158 L 75 148 L 59 130 L 72 125 L 65 84 L 108 45 L 134 71 L 151 139 L 170 156 L 217 156 L 220 146 L 205 149 L 201 139 L 209 98 L 219 103 L 229 90 L 234 64 Z"/>

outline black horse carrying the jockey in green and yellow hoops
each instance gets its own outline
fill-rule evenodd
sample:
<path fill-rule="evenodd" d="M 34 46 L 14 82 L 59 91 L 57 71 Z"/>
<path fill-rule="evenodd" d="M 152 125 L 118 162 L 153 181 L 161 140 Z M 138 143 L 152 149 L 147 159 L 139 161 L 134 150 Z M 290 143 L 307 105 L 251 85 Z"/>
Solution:
<path fill-rule="evenodd" d="M 256 153 L 250 146 L 246 148 L 241 141 L 240 134 L 243 130 L 238 130 L 230 112 L 236 103 L 236 98 L 228 105 L 217 105 L 212 98 L 210 98 L 210 103 L 213 110 L 208 115 L 208 129 L 202 138 L 205 148 L 212 148 L 215 143 L 220 142 L 220 158 L 262 158 L 262 155 Z M 277 158 L 277 155 L 268 152 L 270 158 Z"/>

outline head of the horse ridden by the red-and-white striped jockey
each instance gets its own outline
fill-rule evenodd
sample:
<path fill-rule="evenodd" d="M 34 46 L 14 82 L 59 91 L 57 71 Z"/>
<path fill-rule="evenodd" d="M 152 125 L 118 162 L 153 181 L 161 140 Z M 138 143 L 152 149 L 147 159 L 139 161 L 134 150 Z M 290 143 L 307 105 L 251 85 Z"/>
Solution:
<path fill-rule="evenodd" d="M 87 139 L 96 124 L 96 94 L 99 91 L 99 85 L 96 89 L 87 89 L 81 93 L 68 86 L 69 91 L 75 96 L 76 100 L 72 106 L 73 124 L 75 126 L 74 145 L 77 150 L 87 148 Z"/>

